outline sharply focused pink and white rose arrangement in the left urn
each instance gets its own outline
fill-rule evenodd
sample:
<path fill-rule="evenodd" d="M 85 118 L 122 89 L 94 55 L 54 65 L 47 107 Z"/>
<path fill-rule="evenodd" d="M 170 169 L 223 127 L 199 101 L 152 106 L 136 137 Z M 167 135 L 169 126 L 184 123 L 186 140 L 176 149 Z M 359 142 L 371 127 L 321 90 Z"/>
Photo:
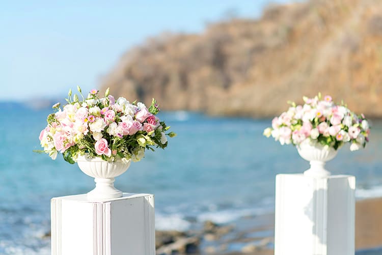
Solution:
<path fill-rule="evenodd" d="M 73 164 L 79 155 L 100 157 L 108 162 L 117 160 L 140 161 L 145 149 L 154 151 L 166 148 L 166 135 L 174 132 L 155 115 L 159 112 L 155 99 L 147 108 L 143 103 L 130 103 L 125 98 L 117 100 L 106 90 L 99 98 L 97 90 L 91 90 L 85 99 L 81 89 L 72 97 L 69 90 L 67 104 L 52 106 L 54 113 L 47 117 L 48 125 L 41 131 L 39 139 L 43 151 L 56 159 L 62 153 L 64 159 Z"/>

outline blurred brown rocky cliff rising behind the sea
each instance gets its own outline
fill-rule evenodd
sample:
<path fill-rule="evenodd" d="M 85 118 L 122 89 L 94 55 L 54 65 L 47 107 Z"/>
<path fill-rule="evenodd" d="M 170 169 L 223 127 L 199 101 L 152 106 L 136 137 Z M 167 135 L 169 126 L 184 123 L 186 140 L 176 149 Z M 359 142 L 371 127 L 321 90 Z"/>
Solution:
<path fill-rule="evenodd" d="M 162 109 L 251 117 L 321 92 L 382 117 L 382 1 L 313 0 L 162 34 L 124 54 L 101 87 Z"/>

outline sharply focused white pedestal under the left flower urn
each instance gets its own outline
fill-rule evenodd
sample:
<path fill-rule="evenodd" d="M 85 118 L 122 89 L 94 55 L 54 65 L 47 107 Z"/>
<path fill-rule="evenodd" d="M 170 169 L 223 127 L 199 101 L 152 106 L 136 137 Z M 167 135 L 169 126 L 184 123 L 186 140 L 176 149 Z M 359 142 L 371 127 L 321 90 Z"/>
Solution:
<path fill-rule="evenodd" d="M 52 255 L 155 255 L 154 196 L 88 201 L 86 194 L 51 200 Z"/>

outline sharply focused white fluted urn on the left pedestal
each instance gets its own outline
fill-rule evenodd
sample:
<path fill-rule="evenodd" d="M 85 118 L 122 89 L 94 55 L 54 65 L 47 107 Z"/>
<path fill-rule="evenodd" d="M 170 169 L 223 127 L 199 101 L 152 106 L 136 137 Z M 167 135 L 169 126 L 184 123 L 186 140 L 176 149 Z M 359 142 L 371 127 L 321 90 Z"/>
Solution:
<path fill-rule="evenodd" d="M 127 171 L 131 163 L 118 160 L 110 163 L 99 157 L 88 158 L 87 156 L 78 156 L 77 164 L 82 172 L 94 178 L 96 187 L 88 192 L 88 199 L 113 199 L 122 197 L 122 191 L 114 187 L 115 177 L 122 175 Z"/>

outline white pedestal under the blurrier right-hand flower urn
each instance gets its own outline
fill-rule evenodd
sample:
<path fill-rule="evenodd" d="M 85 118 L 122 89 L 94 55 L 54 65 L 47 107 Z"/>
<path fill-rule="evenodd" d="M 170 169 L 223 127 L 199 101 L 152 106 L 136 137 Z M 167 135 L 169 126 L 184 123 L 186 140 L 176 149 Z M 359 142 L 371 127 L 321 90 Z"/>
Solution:
<path fill-rule="evenodd" d="M 354 255 L 353 176 L 276 176 L 275 255 Z"/>

